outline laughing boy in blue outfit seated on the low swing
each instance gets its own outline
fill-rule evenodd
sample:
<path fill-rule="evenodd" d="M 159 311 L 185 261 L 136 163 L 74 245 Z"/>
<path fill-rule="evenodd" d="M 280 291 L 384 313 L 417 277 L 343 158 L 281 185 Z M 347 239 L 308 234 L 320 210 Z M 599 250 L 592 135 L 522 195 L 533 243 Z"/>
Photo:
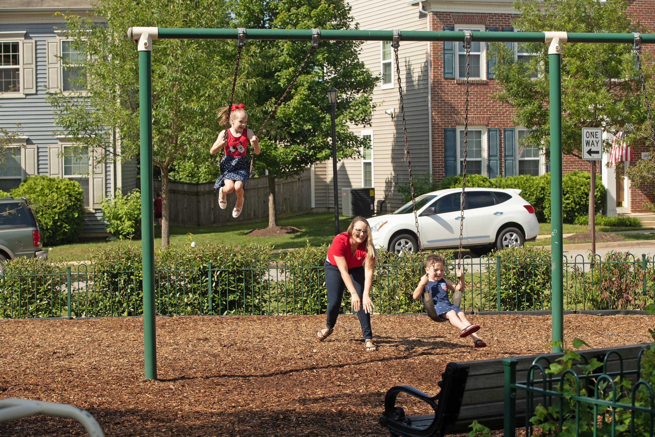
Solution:
<path fill-rule="evenodd" d="M 426 274 L 421 277 L 419 285 L 414 290 L 414 299 L 419 300 L 424 293 L 431 293 L 432 303 L 434 303 L 434 310 L 438 318 L 443 321 L 448 320 L 451 325 L 459 329 L 460 337 L 470 335 L 473 339 L 473 347 L 486 347 L 487 343 L 476 335 L 480 327 L 470 324 L 464 315 L 464 311 L 460 310 L 457 305 L 453 305 L 448 299 L 448 290 L 464 292 L 464 275 L 462 271 L 457 269 L 455 272 L 459 279 L 457 285 L 455 285 L 443 277 L 445 270 L 446 262 L 443 257 L 437 254 L 428 255 L 425 260 Z"/>

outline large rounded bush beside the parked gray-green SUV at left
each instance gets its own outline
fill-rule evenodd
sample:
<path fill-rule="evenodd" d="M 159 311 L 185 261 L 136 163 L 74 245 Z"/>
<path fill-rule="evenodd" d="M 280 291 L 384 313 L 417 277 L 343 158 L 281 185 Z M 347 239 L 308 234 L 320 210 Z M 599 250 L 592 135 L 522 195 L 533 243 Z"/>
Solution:
<path fill-rule="evenodd" d="M 13 197 L 27 197 L 46 246 L 74 242 L 86 217 L 84 191 L 77 181 L 49 176 L 28 176 L 11 190 Z"/>

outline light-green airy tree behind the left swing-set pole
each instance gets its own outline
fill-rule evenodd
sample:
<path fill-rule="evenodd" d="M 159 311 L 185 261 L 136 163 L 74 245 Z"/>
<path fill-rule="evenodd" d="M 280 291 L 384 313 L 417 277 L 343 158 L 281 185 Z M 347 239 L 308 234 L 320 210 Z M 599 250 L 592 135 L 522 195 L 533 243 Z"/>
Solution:
<path fill-rule="evenodd" d="M 230 18 L 227 5 L 212 0 L 107 0 L 94 7 L 96 16 L 90 18 L 65 15 L 73 47 L 86 55 L 75 62 L 77 85 L 84 91 L 53 93 L 48 102 L 61 126 L 58 133 L 93 151 L 95 164 L 130 159 L 139 151 L 138 53 L 126 39 L 127 29 L 225 28 Z M 170 170 L 182 159 L 187 165 L 210 160 L 208 149 L 220 130 L 215 115 L 229 98 L 234 51 L 230 41 L 153 44 L 153 164 L 162 180 L 162 246 L 170 242 Z M 244 64 L 247 68 L 248 61 Z"/>

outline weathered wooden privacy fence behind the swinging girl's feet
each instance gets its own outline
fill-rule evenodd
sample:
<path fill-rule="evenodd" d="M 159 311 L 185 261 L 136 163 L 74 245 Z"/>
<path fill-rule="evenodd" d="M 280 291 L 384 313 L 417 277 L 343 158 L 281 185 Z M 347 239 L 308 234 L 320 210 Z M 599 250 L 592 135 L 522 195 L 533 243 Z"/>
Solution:
<path fill-rule="evenodd" d="M 309 168 L 296 178 L 275 181 L 275 206 L 278 216 L 311 212 L 311 175 Z M 154 181 L 155 191 L 161 190 L 161 181 Z M 267 177 L 250 178 L 246 183 L 244 210 L 238 218 L 232 217 L 236 202 L 234 193 L 227 195 L 227 208 L 218 206 L 218 191 L 214 182 L 169 182 L 170 224 L 174 226 L 206 226 L 228 223 L 248 223 L 269 216 L 269 180 Z"/>

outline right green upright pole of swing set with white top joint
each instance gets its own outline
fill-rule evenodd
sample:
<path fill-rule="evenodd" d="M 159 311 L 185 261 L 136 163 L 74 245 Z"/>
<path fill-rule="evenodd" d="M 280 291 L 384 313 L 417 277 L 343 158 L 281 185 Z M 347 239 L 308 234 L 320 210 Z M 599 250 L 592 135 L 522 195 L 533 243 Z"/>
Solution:
<path fill-rule="evenodd" d="M 551 301 L 553 341 L 564 341 L 564 281 L 562 247 L 562 96 L 561 45 L 565 32 L 546 32 L 550 80 L 550 225 L 551 225 Z M 553 347 L 561 352 L 562 347 Z"/>

